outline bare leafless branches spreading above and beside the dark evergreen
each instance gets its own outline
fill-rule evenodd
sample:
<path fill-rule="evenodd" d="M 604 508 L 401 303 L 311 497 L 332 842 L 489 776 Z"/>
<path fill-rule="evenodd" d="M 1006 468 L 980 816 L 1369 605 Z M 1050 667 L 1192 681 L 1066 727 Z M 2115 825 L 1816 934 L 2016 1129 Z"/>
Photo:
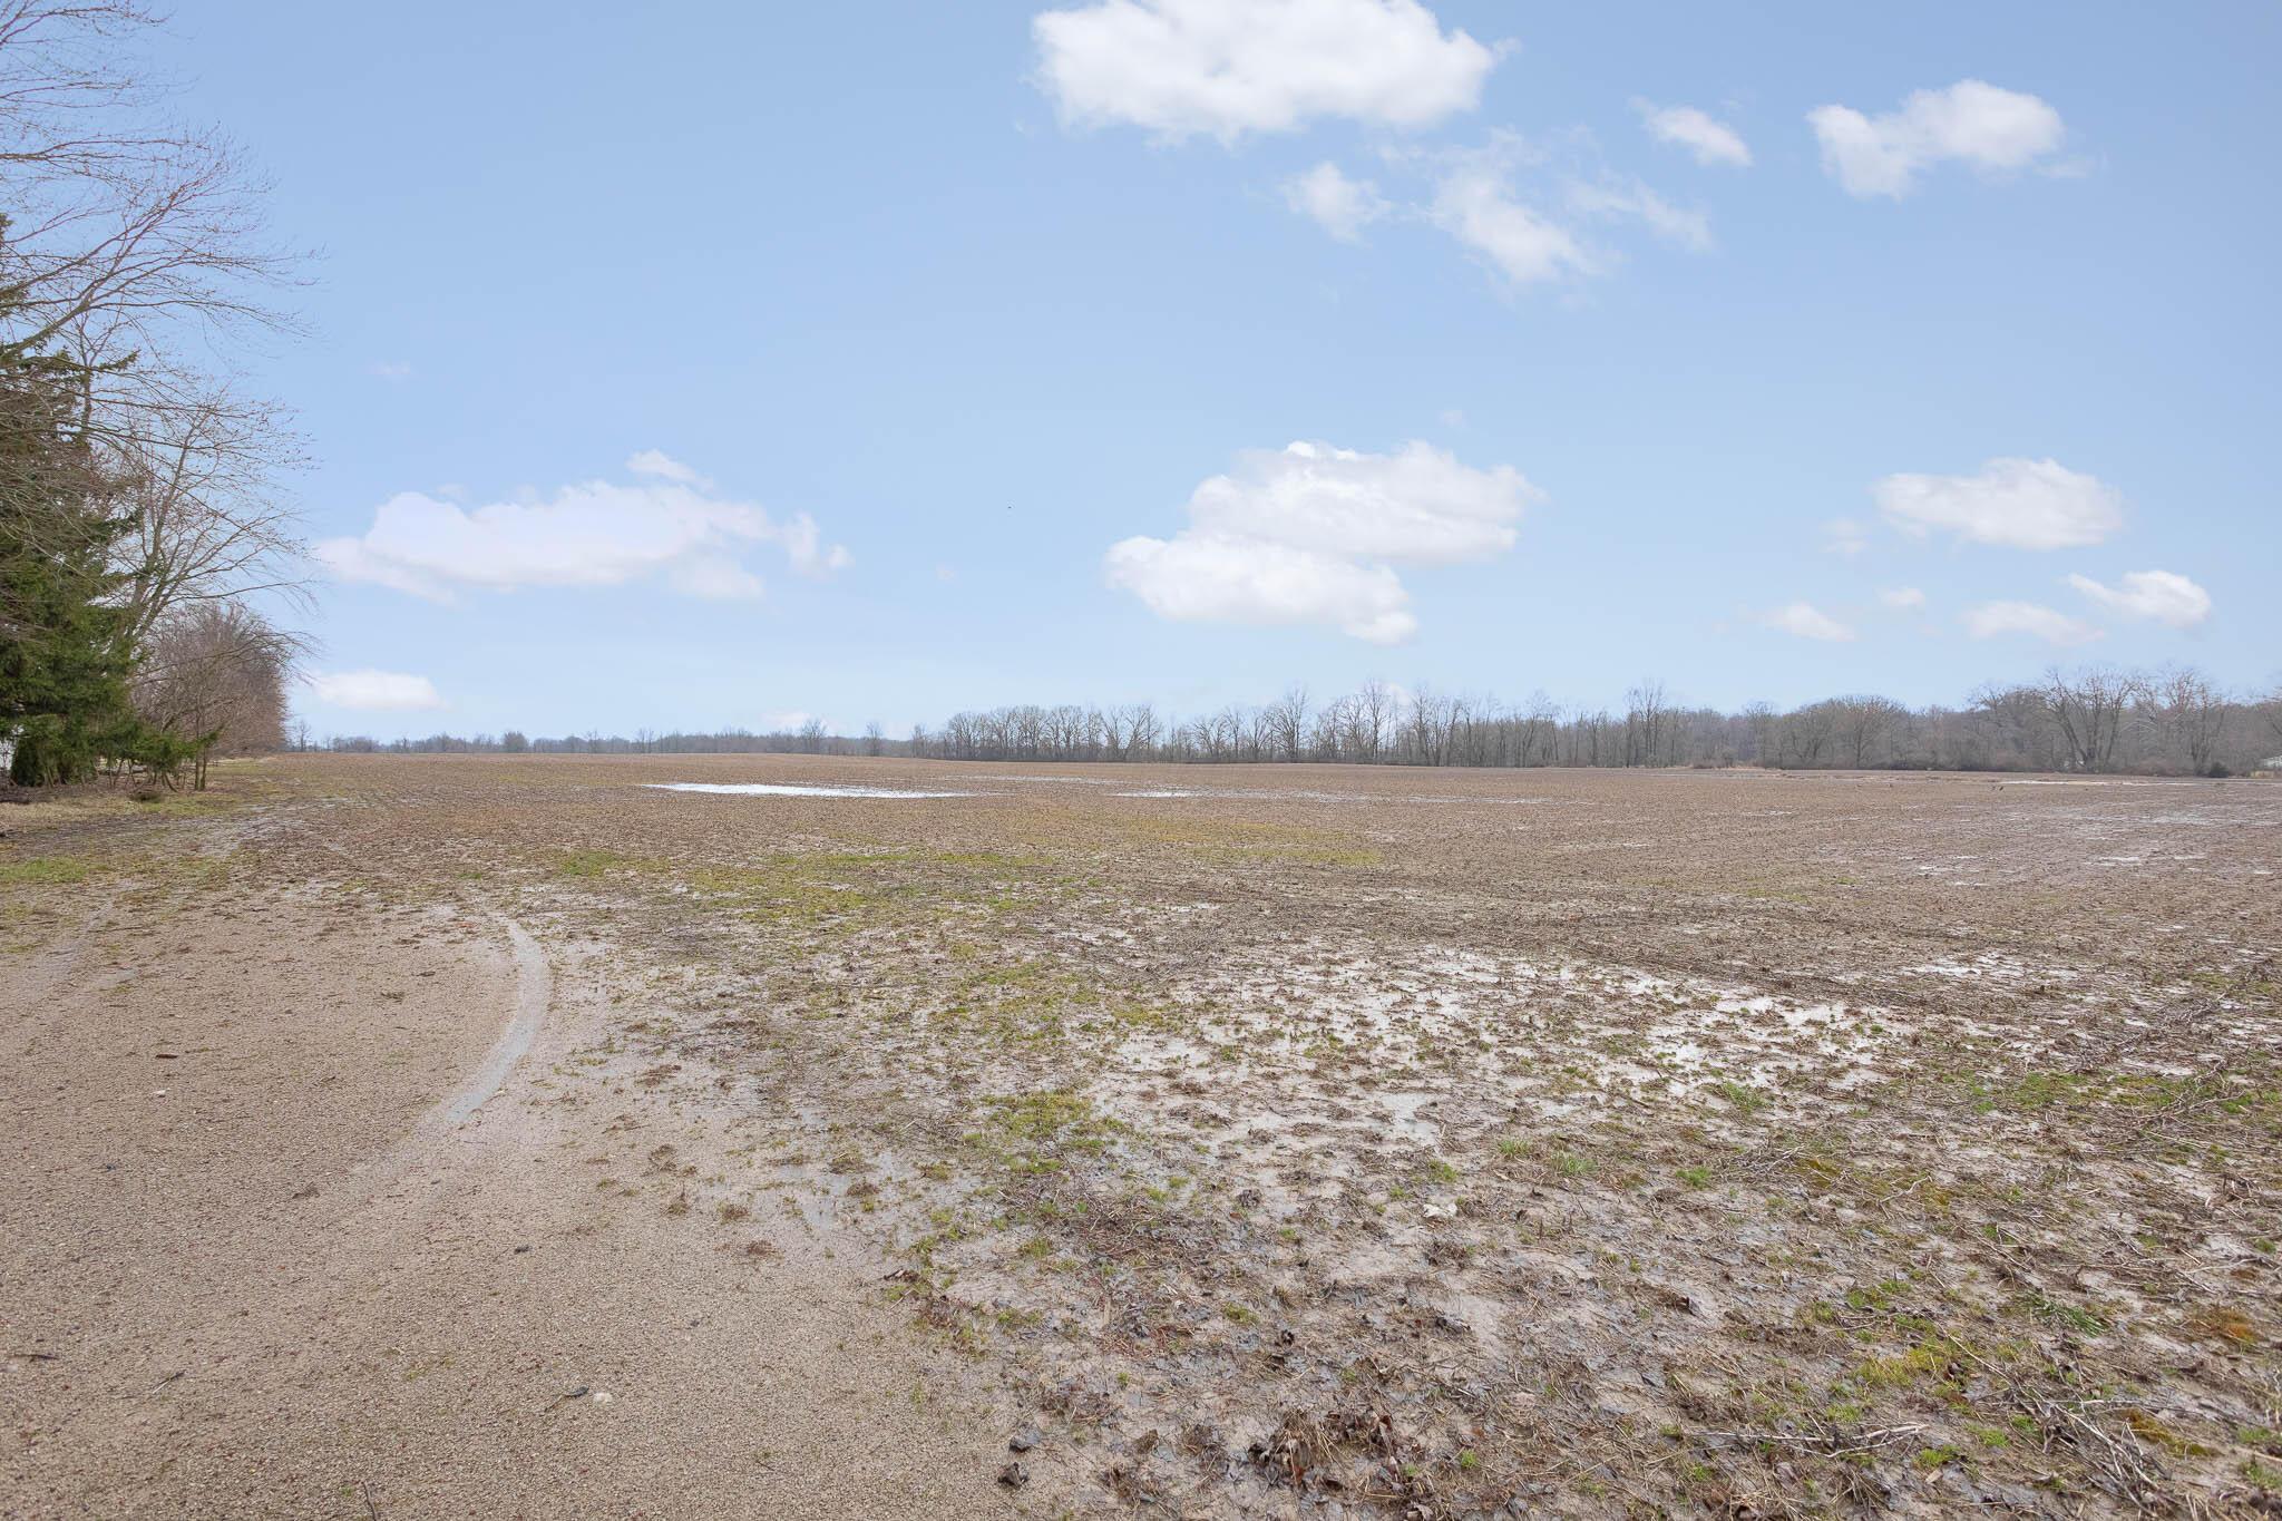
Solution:
<path fill-rule="evenodd" d="M 292 333 L 297 260 L 267 187 L 215 132 L 169 123 L 132 68 L 135 0 L 0 0 L 0 347 L 68 367 L 78 433 L 141 515 L 121 540 L 132 639 L 176 600 L 299 586 L 276 495 L 299 463 L 281 408 L 215 358 Z"/>

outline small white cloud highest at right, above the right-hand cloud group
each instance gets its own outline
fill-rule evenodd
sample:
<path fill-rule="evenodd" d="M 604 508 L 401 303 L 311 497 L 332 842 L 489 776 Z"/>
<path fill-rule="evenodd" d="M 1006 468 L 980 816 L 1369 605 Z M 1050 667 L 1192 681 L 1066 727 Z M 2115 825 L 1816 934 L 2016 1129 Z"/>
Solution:
<path fill-rule="evenodd" d="M 1935 164 L 1960 162 L 1983 173 L 2026 169 L 2058 153 L 2067 137 L 2061 112 L 2045 100 L 1983 80 L 1912 91 L 1883 116 L 1819 105 L 1807 125 L 1823 146 L 1823 169 L 1848 194 L 1896 198 Z"/>

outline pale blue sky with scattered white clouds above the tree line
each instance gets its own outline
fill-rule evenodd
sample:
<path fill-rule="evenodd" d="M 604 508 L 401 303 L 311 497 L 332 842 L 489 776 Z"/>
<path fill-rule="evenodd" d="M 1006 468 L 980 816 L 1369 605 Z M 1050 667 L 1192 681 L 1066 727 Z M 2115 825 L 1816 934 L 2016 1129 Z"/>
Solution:
<path fill-rule="evenodd" d="M 2277 57 L 2250 2 L 189 0 L 160 64 L 322 251 L 251 369 L 304 714 L 386 737 L 2264 684 Z"/>

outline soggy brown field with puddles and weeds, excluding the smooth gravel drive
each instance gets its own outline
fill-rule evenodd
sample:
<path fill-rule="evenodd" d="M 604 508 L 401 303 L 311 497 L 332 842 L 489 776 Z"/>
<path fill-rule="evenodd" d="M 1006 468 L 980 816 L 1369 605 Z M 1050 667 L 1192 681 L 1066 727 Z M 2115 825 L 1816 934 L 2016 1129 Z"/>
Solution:
<path fill-rule="evenodd" d="M 313 757 L 169 828 L 534 935 L 612 1010 L 507 1095 L 564 1165 L 874 1284 L 1043 1514 L 2271 1507 L 2282 787 L 2065 782 Z M 16 953 L 105 819 L 5 841 Z"/>

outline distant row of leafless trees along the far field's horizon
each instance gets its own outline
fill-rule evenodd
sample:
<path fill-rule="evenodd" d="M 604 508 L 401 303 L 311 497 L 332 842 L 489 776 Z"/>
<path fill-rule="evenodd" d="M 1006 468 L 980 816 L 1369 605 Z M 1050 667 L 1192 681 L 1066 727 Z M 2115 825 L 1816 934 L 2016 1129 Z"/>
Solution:
<path fill-rule="evenodd" d="M 2239 775 L 2282 753 L 2282 684 L 2227 696 L 2191 668 L 2154 673 L 2086 666 L 2036 682 L 1983 686 L 1963 707 L 1910 709 L 1846 696 L 1778 711 L 1686 707 L 1664 682 L 1641 682 L 1620 709 L 1561 707 L 1540 696 L 1495 698 L 1401 691 L 1369 682 L 1314 702 L 1294 686 L 1257 707 L 1230 705 L 1166 721 L 1148 702 L 1123 707 L 997 707 L 954 714 L 942 727 L 885 739 L 796 730 L 714 734 L 431 734 L 377 741 L 331 737 L 297 748 L 340 753 L 493 755 L 906 755 L 970 762 L 1349 762 L 1378 766 L 1775 766 L 1901 771 L 2129 771 Z"/>

